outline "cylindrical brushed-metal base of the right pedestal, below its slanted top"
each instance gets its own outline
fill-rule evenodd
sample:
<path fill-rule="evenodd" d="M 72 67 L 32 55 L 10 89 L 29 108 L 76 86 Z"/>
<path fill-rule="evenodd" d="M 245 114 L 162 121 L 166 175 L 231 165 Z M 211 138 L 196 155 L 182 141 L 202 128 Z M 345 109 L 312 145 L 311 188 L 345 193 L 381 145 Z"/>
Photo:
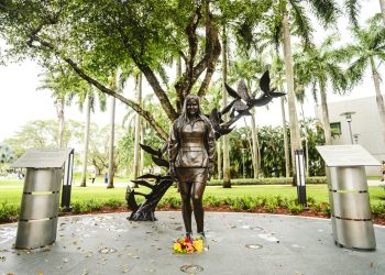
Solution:
<path fill-rule="evenodd" d="M 370 196 L 364 166 L 330 167 L 331 224 L 338 245 L 375 250 Z"/>

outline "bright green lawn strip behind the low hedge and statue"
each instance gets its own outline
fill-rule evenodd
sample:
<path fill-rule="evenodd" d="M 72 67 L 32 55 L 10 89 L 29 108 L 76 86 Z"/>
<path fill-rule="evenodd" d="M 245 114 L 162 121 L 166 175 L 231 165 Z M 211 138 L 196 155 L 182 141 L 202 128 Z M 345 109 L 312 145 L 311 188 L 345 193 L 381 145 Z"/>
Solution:
<path fill-rule="evenodd" d="M 0 182 L 0 204 L 19 206 L 21 201 L 23 184 L 20 180 L 2 180 Z M 135 189 L 138 191 L 148 193 L 147 188 Z M 295 198 L 297 189 L 292 186 L 233 186 L 230 189 L 221 187 L 208 186 L 205 196 L 213 196 L 217 198 L 235 198 L 245 196 L 277 196 Z M 107 189 L 106 186 L 88 186 L 78 187 L 73 186 L 72 201 L 84 200 L 100 200 L 107 201 L 109 199 L 117 199 L 124 202 L 125 188 L 116 187 Z M 328 188 L 326 185 L 308 185 L 307 196 L 312 197 L 319 202 L 329 202 Z M 371 204 L 385 202 L 385 190 L 377 186 L 370 186 Z M 167 197 L 179 197 L 176 188 L 172 187 L 165 195 Z"/>

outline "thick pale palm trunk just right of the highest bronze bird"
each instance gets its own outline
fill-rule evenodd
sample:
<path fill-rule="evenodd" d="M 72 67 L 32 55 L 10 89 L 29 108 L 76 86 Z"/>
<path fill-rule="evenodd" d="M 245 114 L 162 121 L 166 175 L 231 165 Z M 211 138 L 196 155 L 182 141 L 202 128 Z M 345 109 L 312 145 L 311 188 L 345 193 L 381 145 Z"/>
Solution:
<path fill-rule="evenodd" d="M 284 29 L 284 56 L 285 56 L 285 70 L 286 70 L 286 84 L 287 84 L 287 102 L 288 114 L 290 125 L 290 144 L 292 144 L 292 168 L 293 173 L 296 170 L 295 151 L 301 148 L 300 134 L 296 108 L 296 97 L 294 91 L 294 72 L 293 72 L 293 57 L 292 57 L 292 42 L 290 42 L 290 29 L 288 22 L 287 11 L 284 13 L 283 19 Z"/>

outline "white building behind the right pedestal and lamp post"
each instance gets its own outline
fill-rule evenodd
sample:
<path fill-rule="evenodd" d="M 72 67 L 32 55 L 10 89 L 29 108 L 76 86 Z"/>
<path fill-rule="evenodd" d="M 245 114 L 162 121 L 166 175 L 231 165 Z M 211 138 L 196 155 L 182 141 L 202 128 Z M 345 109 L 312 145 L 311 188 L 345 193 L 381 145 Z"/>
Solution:
<path fill-rule="evenodd" d="M 380 162 L 385 161 L 385 136 L 375 97 L 329 102 L 333 145 L 360 144 Z M 321 108 L 316 117 L 321 120 Z M 350 117 L 350 118 L 349 118 Z M 367 176 L 380 176 L 381 166 L 366 167 Z"/>

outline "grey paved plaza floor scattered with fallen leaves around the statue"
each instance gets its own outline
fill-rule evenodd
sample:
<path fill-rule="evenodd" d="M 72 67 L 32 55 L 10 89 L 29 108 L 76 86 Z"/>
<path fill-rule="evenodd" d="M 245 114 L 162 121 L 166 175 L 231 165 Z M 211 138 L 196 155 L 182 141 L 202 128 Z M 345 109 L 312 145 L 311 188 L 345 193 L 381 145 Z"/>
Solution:
<path fill-rule="evenodd" d="M 16 223 L 0 226 L 0 274 L 385 274 L 384 227 L 377 250 L 363 252 L 336 246 L 327 219 L 207 212 L 208 250 L 182 255 L 172 250 L 179 212 L 127 216 L 62 217 L 56 243 L 34 251 L 13 249 Z"/>

